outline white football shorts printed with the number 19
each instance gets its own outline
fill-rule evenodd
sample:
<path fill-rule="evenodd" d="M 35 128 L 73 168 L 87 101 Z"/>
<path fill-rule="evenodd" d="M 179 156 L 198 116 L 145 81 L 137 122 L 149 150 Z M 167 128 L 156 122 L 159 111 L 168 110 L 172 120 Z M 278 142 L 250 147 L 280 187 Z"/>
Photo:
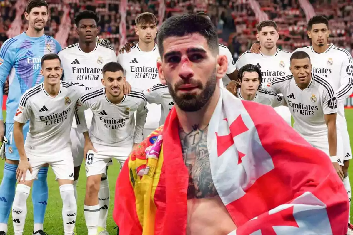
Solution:
<path fill-rule="evenodd" d="M 97 150 L 97 153 L 93 150 L 89 150 L 87 153 L 85 162 L 87 177 L 100 174 L 106 177 L 106 168 L 107 165 L 112 162 L 112 159 L 118 160 L 122 167 L 132 151 L 132 145 L 113 147 L 93 143 L 93 147 Z"/>

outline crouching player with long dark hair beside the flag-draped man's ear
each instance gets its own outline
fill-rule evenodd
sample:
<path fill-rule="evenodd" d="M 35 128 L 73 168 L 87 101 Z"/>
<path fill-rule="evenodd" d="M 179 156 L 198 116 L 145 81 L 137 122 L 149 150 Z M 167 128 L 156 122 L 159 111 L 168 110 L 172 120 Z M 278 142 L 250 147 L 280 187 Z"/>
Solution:
<path fill-rule="evenodd" d="M 246 64 L 239 69 L 238 77 L 239 86 L 238 88 L 235 87 L 237 89 L 235 93 L 238 94 L 239 99 L 251 100 L 272 107 L 287 106 L 285 99 L 281 95 L 261 87 L 262 76 L 259 67 L 253 64 Z"/>

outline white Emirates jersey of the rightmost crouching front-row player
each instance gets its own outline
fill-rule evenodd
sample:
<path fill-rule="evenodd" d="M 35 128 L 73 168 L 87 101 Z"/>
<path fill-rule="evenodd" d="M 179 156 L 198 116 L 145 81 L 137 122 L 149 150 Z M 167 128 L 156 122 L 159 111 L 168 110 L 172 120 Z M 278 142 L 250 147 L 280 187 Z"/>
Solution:
<path fill-rule="evenodd" d="M 337 112 L 337 98 L 331 85 L 311 73 L 307 88 L 301 90 L 293 75 L 273 80 L 268 86 L 283 94 L 294 119 L 294 129 L 304 138 L 327 137 L 324 115 Z"/>

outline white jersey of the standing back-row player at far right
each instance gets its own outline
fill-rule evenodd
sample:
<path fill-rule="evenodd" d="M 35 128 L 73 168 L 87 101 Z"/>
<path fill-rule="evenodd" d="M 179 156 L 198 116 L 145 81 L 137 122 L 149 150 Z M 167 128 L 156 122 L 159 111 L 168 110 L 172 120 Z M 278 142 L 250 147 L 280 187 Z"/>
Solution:
<path fill-rule="evenodd" d="M 328 81 L 338 99 L 338 115 L 345 119 L 344 103 L 353 91 L 353 59 L 348 51 L 329 44 L 322 53 L 314 51 L 312 46 L 298 48 L 295 51 L 305 51 L 312 64 L 312 72 Z M 293 52 L 295 52 L 293 51 Z"/>

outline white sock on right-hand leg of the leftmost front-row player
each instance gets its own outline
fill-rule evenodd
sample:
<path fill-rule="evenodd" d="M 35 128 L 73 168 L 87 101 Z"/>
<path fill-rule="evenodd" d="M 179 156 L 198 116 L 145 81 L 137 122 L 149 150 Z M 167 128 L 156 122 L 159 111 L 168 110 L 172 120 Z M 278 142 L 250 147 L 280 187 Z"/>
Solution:
<path fill-rule="evenodd" d="M 73 185 L 61 185 L 59 190 L 62 199 L 62 220 L 64 221 L 64 233 L 65 235 L 72 235 L 77 214 L 77 204 L 73 193 Z"/>

